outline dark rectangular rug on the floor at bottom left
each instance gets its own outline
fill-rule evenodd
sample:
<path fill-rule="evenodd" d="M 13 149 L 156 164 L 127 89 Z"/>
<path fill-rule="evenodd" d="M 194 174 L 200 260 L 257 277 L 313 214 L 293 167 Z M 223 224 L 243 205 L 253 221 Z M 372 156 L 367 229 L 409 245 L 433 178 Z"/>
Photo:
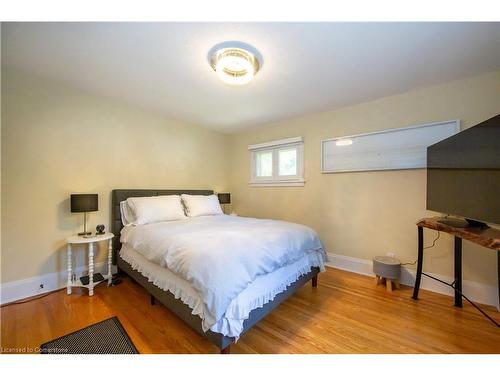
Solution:
<path fill-rule="evenodd" d="M 138 354 L 116 316 L 46 342 L 42 354 Z"/>

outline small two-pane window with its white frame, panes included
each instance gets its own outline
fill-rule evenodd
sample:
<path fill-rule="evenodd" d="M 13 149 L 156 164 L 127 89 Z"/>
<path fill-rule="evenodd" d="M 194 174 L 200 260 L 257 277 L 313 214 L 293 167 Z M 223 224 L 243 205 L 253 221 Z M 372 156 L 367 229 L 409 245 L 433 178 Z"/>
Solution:
<path fill-rule="evenodd" d="M 304 186 L 302 137 L 249 146 L 250 184 L 253 186 Z"/>

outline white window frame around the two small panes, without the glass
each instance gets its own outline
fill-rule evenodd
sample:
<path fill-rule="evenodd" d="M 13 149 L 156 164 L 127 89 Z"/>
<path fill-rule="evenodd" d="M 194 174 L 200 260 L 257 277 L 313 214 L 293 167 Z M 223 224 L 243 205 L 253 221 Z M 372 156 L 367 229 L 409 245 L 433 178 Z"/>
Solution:
<path fill-rule="evenodd" d="M 297 174 L 279 175 L 279 151 L 289 148 L 297 150 Z M 250 151 L 250 186 L 304 186 L 304 141 L 302 137 L 286 138 L 248 146 Z M 257 176 L 256 158 L 261 151 L 273 153 L 273 174 L 270 177 Z"/>

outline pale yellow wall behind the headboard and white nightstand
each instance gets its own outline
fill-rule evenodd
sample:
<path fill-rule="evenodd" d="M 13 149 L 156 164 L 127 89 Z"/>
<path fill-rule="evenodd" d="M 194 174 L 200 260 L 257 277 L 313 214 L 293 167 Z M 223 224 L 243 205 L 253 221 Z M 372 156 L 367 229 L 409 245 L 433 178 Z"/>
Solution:
<path fill-rule="evenodd" d="M 98 193 L 89 224 L 109 228 L 112 189 L 227 189 L 225 135 L 2 73 L 2 283 L 65 269 L 65 238 L 83 225 L 70 193 Z"/>

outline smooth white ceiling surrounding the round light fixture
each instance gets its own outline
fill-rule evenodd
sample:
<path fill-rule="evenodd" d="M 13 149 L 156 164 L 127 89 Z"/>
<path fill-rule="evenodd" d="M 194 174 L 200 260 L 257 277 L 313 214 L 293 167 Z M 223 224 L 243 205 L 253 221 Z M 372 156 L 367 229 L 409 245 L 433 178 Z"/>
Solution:
<path fill-rule="evenodd" d="M 228 40 L 246 86 L 208 64 Z M 500 69 L 500 23 L 4 23 L 2 64 L 233 132 Z"/>

